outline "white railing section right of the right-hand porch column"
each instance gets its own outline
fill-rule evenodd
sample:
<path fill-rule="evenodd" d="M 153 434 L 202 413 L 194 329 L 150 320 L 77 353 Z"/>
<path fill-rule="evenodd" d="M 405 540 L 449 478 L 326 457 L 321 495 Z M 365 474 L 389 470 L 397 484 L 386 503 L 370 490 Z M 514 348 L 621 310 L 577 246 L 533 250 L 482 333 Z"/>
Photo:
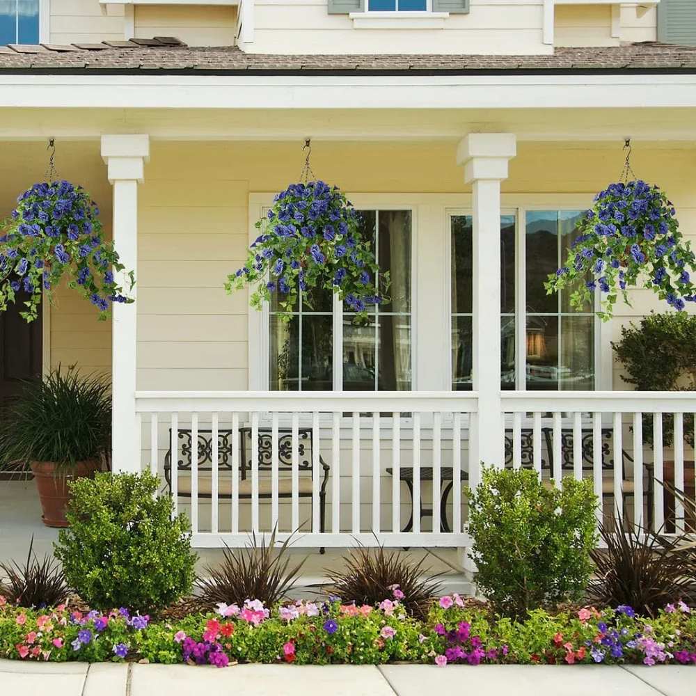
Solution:
<path fill-rule="evenodd" d="M 662 482 L 693 495 L 696 393 L 511 392 L 502 409 L 513 467 L 531 466 L 557 486 L 566 475 L 591 477 L 598 520 L 684 530 L 684 509 Z"/>

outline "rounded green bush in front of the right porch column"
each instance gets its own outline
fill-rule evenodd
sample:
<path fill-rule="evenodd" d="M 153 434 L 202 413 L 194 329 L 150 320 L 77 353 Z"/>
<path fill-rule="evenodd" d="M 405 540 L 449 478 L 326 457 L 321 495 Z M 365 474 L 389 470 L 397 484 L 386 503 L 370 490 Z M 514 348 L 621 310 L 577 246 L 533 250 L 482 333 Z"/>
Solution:
<path fill-rule="evenodd" d="M 592 482 L 567 477 L 558 490 L 532 470 L 484 467 L 469 505 L 477 584 L 496 610 L 524 617 L 583 596 L 596 544 Z"/>

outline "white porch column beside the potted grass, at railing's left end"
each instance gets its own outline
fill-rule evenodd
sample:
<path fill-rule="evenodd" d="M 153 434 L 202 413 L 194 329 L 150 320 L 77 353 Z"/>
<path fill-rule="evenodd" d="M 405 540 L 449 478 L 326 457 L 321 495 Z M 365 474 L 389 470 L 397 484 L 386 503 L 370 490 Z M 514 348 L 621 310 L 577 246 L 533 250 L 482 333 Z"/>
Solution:
<path fill-rule="evenodd" d="M 103 135 L 102 159 L 113 185 L 113 242 L 127 271 L 138 280 L 138 184 L 143 181 L 150 155 L 146 135 Z M 125 276 L 122 285 L 127 288 Z M 129 296 L 136 298 L 135 288 Z M 135 412 L 136 303 L 113 304 L 111 466 L 113 471 L 138 472 L 141 467 L 141 432 Z"/>

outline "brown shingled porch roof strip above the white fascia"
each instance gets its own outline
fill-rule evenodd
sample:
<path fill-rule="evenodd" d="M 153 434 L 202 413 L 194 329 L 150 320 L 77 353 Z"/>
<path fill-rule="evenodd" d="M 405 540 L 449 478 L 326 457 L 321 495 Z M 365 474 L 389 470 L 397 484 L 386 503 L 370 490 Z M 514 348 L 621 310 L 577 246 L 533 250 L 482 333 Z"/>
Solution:
<path fill-rule="evenodd" d="M 189 47 L 179 40 L 152 39 L 80 43 L 70 46 L 0 47 L 0 72 L 110 70 L 152 74 L 153 70 L 253 73 L 413 72 L 692 72 L 696 47 L 635 43 L 617 47 L 557 48 L 549 55 L 274 55 L 237 47 Z"/>

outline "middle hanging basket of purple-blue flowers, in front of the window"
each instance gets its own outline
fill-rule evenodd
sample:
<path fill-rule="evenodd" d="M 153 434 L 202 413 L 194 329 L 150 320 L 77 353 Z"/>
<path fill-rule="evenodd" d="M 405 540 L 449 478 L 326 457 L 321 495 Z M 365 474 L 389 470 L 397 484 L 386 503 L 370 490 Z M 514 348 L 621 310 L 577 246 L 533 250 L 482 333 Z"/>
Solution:
<path fill-rule="evenodd" d="M 251 286 L 251 306 L 260 309 L 271 294 L 285 319 L 301 294 L 324 288 L 338 293 L 360 319 L 367 306 L 383 301 L 376 290 L 377 263 L 372 244 L 363 239 L 359 214 L 340 192 L 323 181 L 290 184 L 274 199 L 261 234 L 251 245 L 244 267 L 228 276 L 226 290 Z M 388 274 L 379 274 L 386 289 Z"/>

